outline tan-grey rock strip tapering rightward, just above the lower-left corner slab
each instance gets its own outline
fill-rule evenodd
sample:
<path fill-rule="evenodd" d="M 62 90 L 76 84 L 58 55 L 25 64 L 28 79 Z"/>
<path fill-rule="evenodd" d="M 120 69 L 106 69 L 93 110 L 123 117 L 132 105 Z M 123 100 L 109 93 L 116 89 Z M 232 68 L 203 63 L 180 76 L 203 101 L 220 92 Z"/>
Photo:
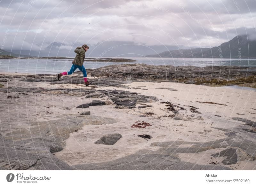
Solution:
<path fill-rule="evenodd" d="M 31 138 L 45 138 L 52 140 L 60 145 L 65 145 L 64 140 L 68 139 L 69 134 L 75 132 L 84 125 L 108 125 L 116 123 L 114 118 L 100 116 L 84 116 L 84 115 L 66 115 L 56 120 L 34 121 L 29 122 L 30 129 L 16 129 L 12 132 L 2 134 L 8 140 L 27 140 Z M 42 144 L 44 146 L 44 144 Z"/>

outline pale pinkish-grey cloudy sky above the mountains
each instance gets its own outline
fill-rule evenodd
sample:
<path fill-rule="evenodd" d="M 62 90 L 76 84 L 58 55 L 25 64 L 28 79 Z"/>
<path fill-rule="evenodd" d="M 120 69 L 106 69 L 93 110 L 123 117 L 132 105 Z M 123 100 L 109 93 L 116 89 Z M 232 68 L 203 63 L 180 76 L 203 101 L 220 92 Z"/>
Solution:
<path fill-rule="evenodd" d="M 213 47 L 254 33 L 255 0 L 0 0 L 4 49 L 125 41 Z"/>

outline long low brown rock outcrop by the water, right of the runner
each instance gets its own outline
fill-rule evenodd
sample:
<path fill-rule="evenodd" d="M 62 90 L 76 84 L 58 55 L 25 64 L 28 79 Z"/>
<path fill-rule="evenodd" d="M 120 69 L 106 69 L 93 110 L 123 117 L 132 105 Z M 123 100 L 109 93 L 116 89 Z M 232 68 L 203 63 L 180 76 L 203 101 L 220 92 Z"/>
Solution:
<path fill-rule="evenodd" d="M 256 88 L 256 68 L 240 66 L 153 66 L 123 64 L 97 68 L 92 76 L 131 78 L 134 81 L 167 81 L 203 85 L 242 84 Z"/>

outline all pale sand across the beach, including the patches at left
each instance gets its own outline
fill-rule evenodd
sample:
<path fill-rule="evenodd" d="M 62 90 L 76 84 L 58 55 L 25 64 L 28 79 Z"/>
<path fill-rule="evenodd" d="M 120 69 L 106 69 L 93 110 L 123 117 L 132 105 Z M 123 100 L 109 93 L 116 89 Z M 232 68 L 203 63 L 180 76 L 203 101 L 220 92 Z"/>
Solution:
<path fill-rule="evenodd" d="M 6 75 L 6 73 L 0 73 Z M 10 73 L 8 73 L 10 75 Z M 17 75 L 15 73 L 15 75 Z M 19 74 L 24 75 L 24 74 Z M 54 76 L 53 76 L 54 78 Z M 2 78 L 3 79 L 3 78 Z M 93 77 L 90 78 L 93 81 Z M 77 84 L 50 84 L 44 82 L 28 83 L 17 79 L 10 82 L 1 82 L 5 85 L 14 87 L 38 87 L 38 88 L 81 88 Z M 244 122 L 233 120 L 233 117 L 240 117 L 246 120 L 255 121 L 256 119 L 256 92 L 253 90 L 230 89 L 225 87 L 210 87 L 204 85 L 192 85 L 171 82 L 131 82 L 126 84 L 127 88 L 117 87 L 97 87 L 99 89 L 117 89 L 137 92 L 141 95 L 157 97 L 159 101 L 145 103 L 152 105 L 147 108 L 116 109 L 115 105 L 92 106 L 89 108 L 79 109 L 76 106 L 83 103 L 98 100 L 99 98 L 87 98 L 84 96 L 70 96 L 55 93 L 34 93 L 28 97 L 17 99 L 6 99 L 5 96 L 15 96 L 14 93 L 0 93 L 1 96 L 1 126 L 2 135 L 8 133 L 3 127 L 4 122 L 9 122 L 12 130 L 25 128 L 26 121 L 47 121 L 56 120 L 69 115 L 79 114 L 83 111 L 90 111 L 91 116 L 107 117 L 115 119 L 116 122 L 102 125 L 84 125 L 77 132 L 72 132 L 64 140 L 64 149 L 60 152 L 52 153 L 58 159 L 67 162 L 70 166 L 86 163 L 100 163 L 116 160 L 138 151 L 146 150 L 150 153 L 162 151 L 163 142 L 181 142 L 175 145 L 175 148 L 189 148 L 192 143 L 207 143 L 216 140 L 224 140 L 222 148 L 209 148 L 197 153 L 186 151 L 184 153 L 172 153 L 172 156 L 179 158 L 181 161 L 195 163 L 198 165 L 209 165 L 214 162 L 220 165 L 226 157 L 214 158 L 211 154 L 218 153 L 228 148 L 240 149 L 239 145 L 234 147 L 226 144 L 225 139 L 243 142 L 249 140 L 256 144 L 255 133 L 247 132 L 242 128 Z M 90 89 L 90 87 L 84 87 Z M 161 89 L 159 89 L 161 88 Z M 164 89 L 162 89 L 164 88 Z M 168 88 L 168 89 L 165 89 Z M 169 89 L 171 88 L 171 89 Z M 175 89 L 175 90 L 172 90 Z M 37 96 L 35 96 L 37 95 Z M 100 98 L 106 100 L 106 97 Z M 171 102 L 178 105 L 184 110 L 179 113 L 173 113 L 166 110 L 167 106 L 161 102 Z M 200 103 L 214 102 L 217 104 Z M 218 105 L 222 104 L 222 105 Z M 196 107 L 199 113 L 190 111 L 190 106 Z M 48 108 L 49 107 L 49 108 Z M 65 110 L 69 107 L 70 110 Z M 145 116 L 146 112 L 152 112 L 152 116 Z M 49 114 L 50 113 L 50 114 Z M 174 117 L 169 117 L 172 115 Z M 216 116 L 217 115 L 217 116 Z M 85 120 L 89 116 L 84 116 Z M 175 119 L 176 118 L 176 119 Z M 9 121 L 8 121 L 9 119 Z M 17 121 L 20 125 L 17 125 Z M 131 128 L 136 121 L 145 121 L 151 124 L 147 128 Z M 225 130 L 224 130 L 225 129 Z M 236 136 L 228 136 L 227 132 L 234 131 Z M 100 137 L 119 133 L 122 138 L 114 145 L 95 144 L 94 142 Z M 138 137 L 138 135 L 148 134 L 152 136 L 148 141 Z M 229 138 L 228 138 L 229 137 Z M 160 145 L 152 145 L 159 143 Z M 254 151 L 254 152 L 253 152 Z M 243 151 L 244 152 L 244 151 Z M 247 153 L 247 152 L 246 152 Z M 234 170 L 256 170 L 255 149 L 251 149 L 249 158 L 238 159 L 238 162 L 231 165 L 225 165 Z M 239 157 L 238 157 L 239 158 Z"/>

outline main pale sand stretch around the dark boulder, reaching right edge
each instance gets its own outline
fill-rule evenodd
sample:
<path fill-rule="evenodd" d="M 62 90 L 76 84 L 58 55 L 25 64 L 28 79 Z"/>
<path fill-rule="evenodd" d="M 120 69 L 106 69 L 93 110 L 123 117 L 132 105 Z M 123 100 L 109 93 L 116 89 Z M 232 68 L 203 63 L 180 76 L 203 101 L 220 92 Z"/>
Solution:
<path fill-rule="evenodd" d="M 179 83 L 143 83 L 133 82 L 129 84 L 129 91 L 138 92 L 142 95 L 156 96 L 159 98 L 159 102 L 172 102 L 173 104 L 191 105 L 195 106 L 199 112 L 199 116 L 202 116 L 203 120 L 197 119 L 196 114 L 184 114 L 188 117 L 194 118 L 191 121 L 173 120 L 172 118 L 157 119 L 159 116 L 166 114 L 164 104 L 159 103 L 147 103 L 153 105 L 153 107 L 143 109 L 114 109 L 107 108 L 108 112 L 102 112 L 99 109 L 93 109 L 92 114 L 107 115 L 110 117 L 118 118 L 119 122 L 112 125 L 99 126 L 84 126 L 78 133 L 72 133 L 72 135 L 66 140 L 66 147 L 64 150 L 55 153 L 55 156 L 68 161 L 69 164 L 83 164 L 104 162 L 109 160 L 118 159 L 120 157 L 127 156 L 135 153 L 141 149 L 147 149 L 155 151 L 157 147 L 150 146 L 153 142 L 162 141 L 186 141 L 186 142 L 207 142 L 216 140 L 216 138 L 225 138 L 224 131 L 220 131 L 215 128 L 234 129 L 241 125 L 234 120 L 230 120 L 231 117 L 238 117 L 236 113 L 244 114 L 243 118 L 249 120 L 255 120 L 255 114 L 253 114 L 253 108 L 255 109 L 255 92 L 239 89 L 227 89 L 227 88 L 214 88 L 200 85 L 188 85 Z M 148 90 L 133 89 L 143 87 Z M 156 88 L 173 88 L 178 91 L 170 91 L 168 89 L 156 89 Z M 111 89 L 98 87 L 97 89 Z M 112 88 L 113 89 L 113 88 Z M 118 88 L 119 90 L 125 90 Z M 203 104 L 196 101 L 215 102 L 223 105 Z M 153 112 L 153 117 L 141 118 L 138 117 L 141 113 Z M 220 115 L 221 117 L 215 116 Z M 149 122 L 152 126 L 143 129 L 131 128 L 137 120 Z M 239 128 L 239 127 L 238 127 Z M 246 139 L 255 141 L 254 134 L 247 133 L 238 129 L 245 135 Z M 94 142 L 99 139 L 103 134 L 120 133 L 123 138 L 118 140 L 115 145 L 95 145 Z M 146 141 L 143 138 L 137 137 L 137 135 L 150 134 L 153 138 L 150 141 Z M 189 147 L 189 145 L 187 145 Z M 224 148 L 223 148 L 224 149 Z M 223 149 L 214 149 L 204 151 L 196 154 L 180 153 L 177 157 L 186 162 L 192 162 L 197 164 L 207 164 L 209 161 L 219 163 L 221 159 L 212 159 L 211 154 L 219 152 Z M 247 163 L 247 164 L 246 164 Z M 256 163 L 250 162 L 250 168 L 248 162 L 239 163 L 239 165 L 228 166 L 236 169 L 255 170 Z"/>

